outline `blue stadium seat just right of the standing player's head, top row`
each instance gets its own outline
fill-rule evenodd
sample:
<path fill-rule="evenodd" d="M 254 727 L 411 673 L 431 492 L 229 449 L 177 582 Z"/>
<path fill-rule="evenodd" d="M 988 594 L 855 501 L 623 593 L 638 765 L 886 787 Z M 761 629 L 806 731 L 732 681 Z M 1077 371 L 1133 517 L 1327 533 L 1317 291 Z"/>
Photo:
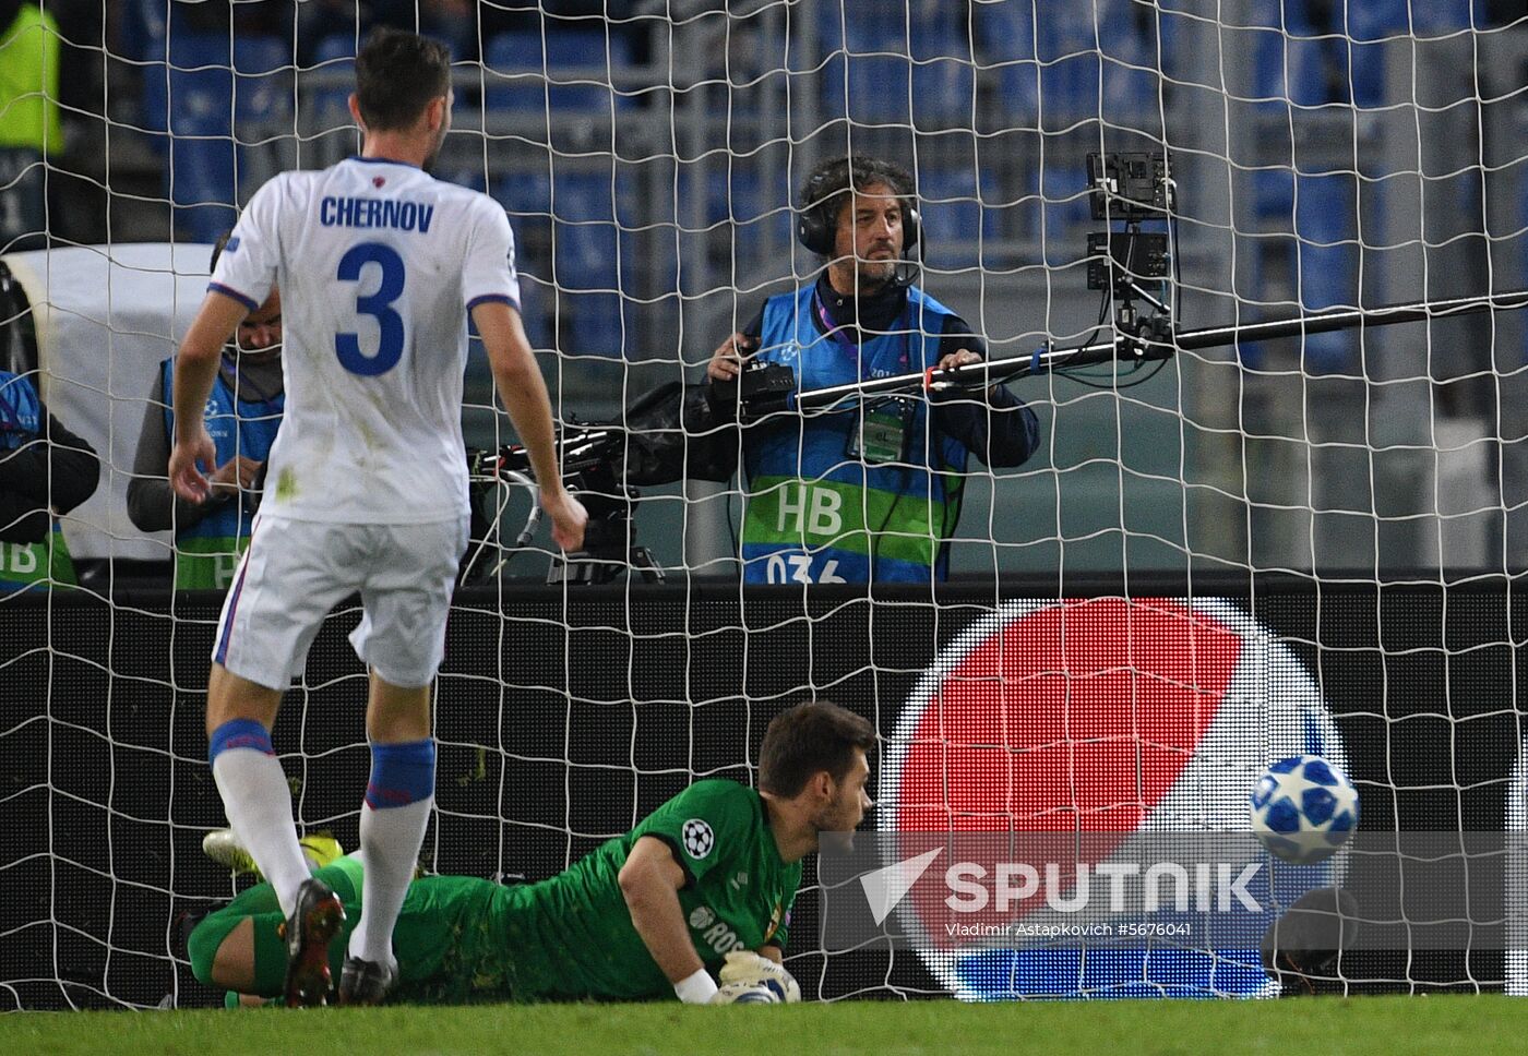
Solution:
<path fill-rule="evenodd" d="M 509 32 L 487 41 L 483 52 L 483 105 L 487 110 L 626 109 L 630 96 L 611 90 L 611 70 L 630 63 L 626 40 L 604 31 L 549 29 Z M 542 79 L 545 75 L 545 79 Z"/>

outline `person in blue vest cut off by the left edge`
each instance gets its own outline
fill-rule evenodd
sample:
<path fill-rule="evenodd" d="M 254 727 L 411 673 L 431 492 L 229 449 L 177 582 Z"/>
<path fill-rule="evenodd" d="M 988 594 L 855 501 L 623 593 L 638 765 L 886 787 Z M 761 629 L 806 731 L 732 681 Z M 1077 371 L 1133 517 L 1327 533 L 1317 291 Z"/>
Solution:
<path fill-rule="evenodd" d="M 0 594 L 76 584 L 58 515 L 99 480 L 95 449 L 47 413 L 29 377 L 0 370 Z"/>

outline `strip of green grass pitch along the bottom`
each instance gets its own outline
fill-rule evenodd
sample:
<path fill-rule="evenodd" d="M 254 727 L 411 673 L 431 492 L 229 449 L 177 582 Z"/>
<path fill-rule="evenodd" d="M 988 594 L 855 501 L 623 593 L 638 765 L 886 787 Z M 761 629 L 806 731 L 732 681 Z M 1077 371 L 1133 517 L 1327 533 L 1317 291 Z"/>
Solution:
<path fill-rule="evenodd" d="M 1415 996 L 1300 1001 L 793 1007 L 480 1006 L 0 1016 L 0 1053 L 382 1056 L 417 1053 L 813 1053 L 813 1056 L 1221 1056 L 1522 1053 L 1528 1001 Z"/>

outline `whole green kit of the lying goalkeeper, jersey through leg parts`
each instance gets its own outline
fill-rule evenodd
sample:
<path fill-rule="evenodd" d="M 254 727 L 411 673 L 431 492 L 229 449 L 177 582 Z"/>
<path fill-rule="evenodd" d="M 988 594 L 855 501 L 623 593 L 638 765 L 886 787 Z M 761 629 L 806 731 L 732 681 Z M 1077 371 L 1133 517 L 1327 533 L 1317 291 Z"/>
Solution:
<path fill-rule="evenodd" d="M 781 860 L 756 792 L 732 781 L 701 781 L 549 880 L 509 888 L 471 876 L 414 880 L 393 929 L 400 978 L 390 999 L 671 996 L 669 981 L 631 925 L 617 879 L 643 836 L 668 844 L 685 870 L 678 902 L 706 967 L 717 969 L 733 949 L 785 947 L 801 862 Z M 344 931 L 329 947 L 336 978 L 361 918 L 361 868 L 359 859 L 342 857 L 315 874 L 345 903 Z M 249 888 L 197 925 L 189 938 L 193 970 L 203 983 L 212 981 L 219 946 L 246 918 L 254 920 L 251 992 L 277 996 L 286 973 L 284 917 L 269 883 Z"/>

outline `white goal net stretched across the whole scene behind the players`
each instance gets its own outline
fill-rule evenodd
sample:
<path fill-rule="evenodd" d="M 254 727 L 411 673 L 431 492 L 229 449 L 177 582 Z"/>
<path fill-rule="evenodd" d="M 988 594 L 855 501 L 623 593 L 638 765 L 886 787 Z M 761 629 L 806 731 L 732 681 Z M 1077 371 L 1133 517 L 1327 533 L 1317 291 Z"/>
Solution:
<path fill-rule="evenodd" d="M 31 382 L 101 463 L 58 518 L 67 567 L 58 544 L 0 544 L 0 582 L 31 587 L 0 593 L 0 1007 L 222 996 L 183 943 L 249 883 L 199 850 L 223 824 L 202 730 L 220 596 L 171 591 L 186 541 L 145 530 L 153 497 L 131 486 L 163 478 L 141 449 L 163 436 L 160 364 L 212 240 L 272 174 L 358 153 L 354 55 L 388 18 L 449 44 L 435 174 L 509 212 L 526 330 L 584 442 L 565 469 L 605 532 L 597 559 L 561 564 L 474 342 L 478 518 L 439 680 L 426 868 L 550 876 L 698 778 L 752 782 L 770 718 L 821 697 L 880 734 L 866 828 L 888 865 L 909 833 L 1244 833 L 1262 770 L 1302 753 L 1352 776 L 1360 836 L 1452 833 L 1461 850 L 1444 865 L 1374 851 L 1387 880 L 1361 844 L 1303 871 L 1264 856 L 1276 882 L 1219 937 L 960 949 L 909 938 L 927 938 L 917 899 L 845 938 L 808 862 L 787 966 L 810 995 L 1271 996 L 1262 928 L 1322 886 L 1354 892 L 1374 938 L 1311 986 L 1528 990 L 1528 332 L 1517 310 L 1381 312 L 1528 287 L 1520 9 L 87 8 L 0 5 L 15 11 L 0 61 L 20 70 L 0 78 L 0 377 Z M 817 281 L 799 193 L 842 154 L 908 170 L 909 281 L 969 324 L 990 379 L 1036 411 L 1038 446 L 949 468 L 943 512 L 906 532 L 895 506 L 859 526 L 872 552 L 895 536 L 941 553 L 947 582 L 869 590 L 781 558 L 744 585 L 749 510 L 767 498 L 749 480 L 758 434 L 680 408 L 767 298 Z M 1131 185 L 1089 156 L 1160 157 L 1163 174 Z M 1131 186 L 1161 197 L 1137 215 Z M 1123 241 L 1089 243 L 1103 231 Z M 1354 326 L 1238 333 L 1340 309 Z M 1178 339 L 1216 327 L 1218 342 Z M 1074 347 L 1109 351 L 1086 368 L 1051 355 Z M 952 399 L 996 429 L 1013 411 L 983 393 Z M 773 420 L 813 426 L 795 407 Z M 0 431 L 0 474 L 21 434 Z M 703 448 L 738 472 L 703 472 Z M 0 475 L 0 532 L 21 521 L 5 491 L 20 488 Z M 784 494 L 769 498 L 781 532 L 792 510 L 798 535 L 842 512 L 837 492 Z M 358 617 L 332 614 L 274 734 L 299 827 L 347 848 L 368 764 Z M 1453 894 L 1387 915 L 1395 877 Z"/>

